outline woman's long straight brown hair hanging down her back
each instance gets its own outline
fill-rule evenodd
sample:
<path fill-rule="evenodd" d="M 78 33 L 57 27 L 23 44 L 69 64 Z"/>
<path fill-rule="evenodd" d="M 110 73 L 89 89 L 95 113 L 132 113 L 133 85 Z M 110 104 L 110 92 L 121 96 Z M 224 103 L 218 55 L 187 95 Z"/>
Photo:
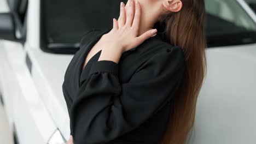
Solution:
<path fill-rule="evenodd" d="M 187 69 L 181 86 L 171 100 L 171 113 L 161 144 L 183 144 L 187 141 L 195 119 L 196 100 L 206 76 L 205 2 L 181 0 L 182 9 L 160 18 L 166 27 L 166 37 L 180 46 Z"/>

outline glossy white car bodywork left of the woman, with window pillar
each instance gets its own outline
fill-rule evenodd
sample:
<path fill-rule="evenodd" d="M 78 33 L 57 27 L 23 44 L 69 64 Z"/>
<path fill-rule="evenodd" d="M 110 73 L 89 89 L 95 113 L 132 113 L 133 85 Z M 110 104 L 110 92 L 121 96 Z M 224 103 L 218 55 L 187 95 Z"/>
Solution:
<path fill-rule="evenodd" d="M 62 129 L 63 135 L 66 131 L 67 139 L 69 124 L 68 113 L 63 105 L 65 101 L 56 97 L 56 95 L 60 95 L 59 98 L 62 98 L 61 88 L 57 88 L 56 91 L 59 91 L 55 94 L 52 90 L 55 86 L 50 86 L 54 82 L 58 82 L 57 85 L 59 84 L 61 87 L 61 77 L 55 79 L 55 75 L 61 76 L 62 74 L 58 74 L 52 67 L 48 67 L 49 57 L 48 61 L 45 61 L 47 56 L 53 54 L 44 53 L 39 49 L 39 1 L 29 1 L 28 3 L 28 31 L 25 45 L 1 40 L 0 47 L 1 93 L 10 127 L 14 130 L 13 124 L 15 124 L 19 142 L 21 144 L 48 143 L 57 129 Z M 32 75 L 26 65 L 26 52 L 33 61 Z M 72 55 L 62 57 L 64 60 L 70 61 Z M 60 60 L 62 61 L 62 59 Z M 56 57 L 52 60 L 57 62 Z M 45 65 L 48 66 L 45 67 Z M 61 64 L 59 63 L 59 65 Z M 53 73 L 40 70 L 42 68 L 52 69 Z M 63 68 L 58 70 L 62 70 L 64 73 L 65 66 Z"/>

